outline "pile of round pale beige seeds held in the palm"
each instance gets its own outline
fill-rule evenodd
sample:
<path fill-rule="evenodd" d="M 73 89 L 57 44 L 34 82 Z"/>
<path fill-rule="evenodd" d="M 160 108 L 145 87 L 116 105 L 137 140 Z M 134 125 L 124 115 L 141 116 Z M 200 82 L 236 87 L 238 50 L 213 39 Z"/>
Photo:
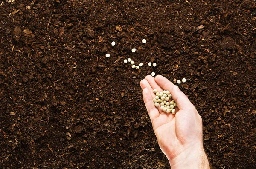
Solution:
<path fill-rule="evenodd" d="M 153 90 L 156 97 L 153 99 L 154 105 L 158 107 L 161 106 L 160 109 L 166 113 L 172 112 L 172 114 L 176 113 L 175 107 L 177 103 L 175 103 L 172 99 L 172 95 L 169 90 L 164 90 L 163 92 L 157 92 L 157 89 Z"/>

